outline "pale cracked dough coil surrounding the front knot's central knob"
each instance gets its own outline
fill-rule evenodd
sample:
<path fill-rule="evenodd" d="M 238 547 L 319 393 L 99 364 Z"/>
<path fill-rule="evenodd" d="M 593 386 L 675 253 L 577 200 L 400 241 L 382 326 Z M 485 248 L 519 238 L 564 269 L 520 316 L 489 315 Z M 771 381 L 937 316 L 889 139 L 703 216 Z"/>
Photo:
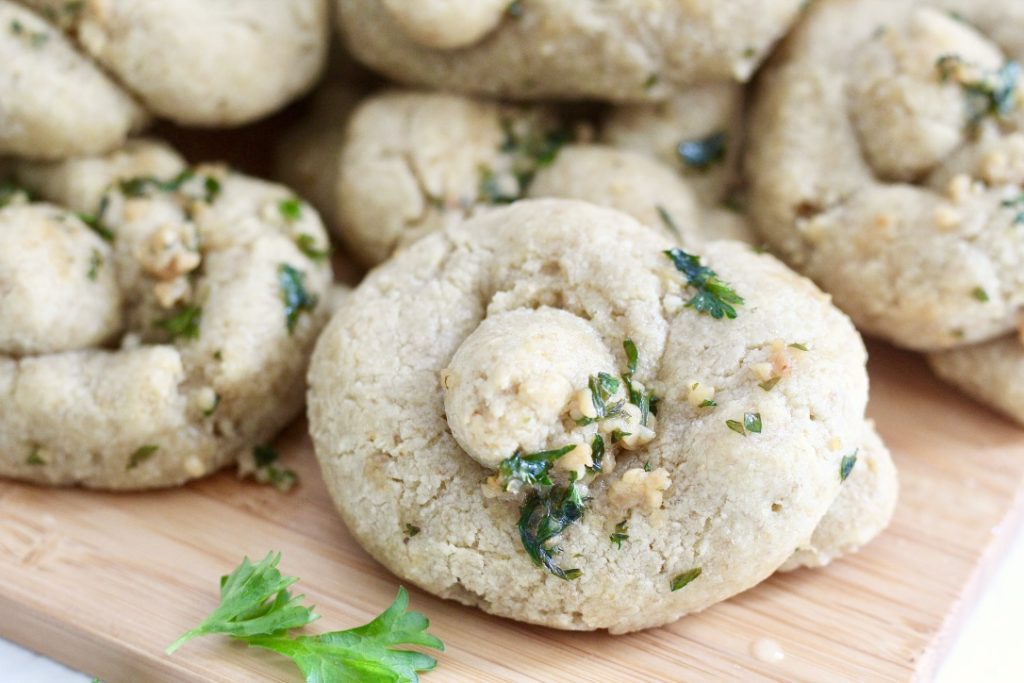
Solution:
<path fill-rule="evenodd" d="M 660 253 L 670 245 L 616 211 L 529 200 L 429 234 L 368 275 L 317 343 L 308 404 L 329 489 L 374 557 L 495 614 L 627 632 L 743 591 L 809 542 L 840 495 L 842 456 L 865 438 L 859 336 L 808 281 L 733 242 L 702 255 L 746 299 L 738 316 L 684 307 L 683 280 Z M 493 472 L 453 437 L 442 387 L 484 322 L 548 308 L 590 327 L 620 370 L 633 339 L 636 378 L 662 396 L 655 438 L 614 454 L 559 542 L 558 561 L 583 569 L 572 582 L 530 562 L 518 503 L 484 494 Z M 770 391 L 759 386 L 766 364 L 783 374 Z M 717 405 L 691 404 L 698 382 Z M 760 434 L 727 427 L 745 412 L 762 416 Z M 671 480 L 664 507 L 624 513 L 609 482 L 645 462 Z M 608 535 L 624 517 L 630 539 L 617 550 Z M 421 530 L 407 539 L 407 524 Z M 700 577 L 672 592 L 695 566 Z"/>

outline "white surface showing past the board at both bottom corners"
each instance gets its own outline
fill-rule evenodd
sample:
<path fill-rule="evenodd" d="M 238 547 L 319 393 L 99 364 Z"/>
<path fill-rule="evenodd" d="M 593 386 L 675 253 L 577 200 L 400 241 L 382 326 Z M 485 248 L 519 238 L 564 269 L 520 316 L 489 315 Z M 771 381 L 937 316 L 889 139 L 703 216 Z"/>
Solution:
<path fill-rule="evenodd" d="M 938 681 L 1019 683 L 1024 681 L 1024 529 L 1018 533 L 961 637 Z M 88 683 L 83 676 L 0 640 L 0 679 L 5 683 Z M 429 682 L 424 679 L 424 683 Z M 105 681 L 104 683 L 122 683 Z"/>

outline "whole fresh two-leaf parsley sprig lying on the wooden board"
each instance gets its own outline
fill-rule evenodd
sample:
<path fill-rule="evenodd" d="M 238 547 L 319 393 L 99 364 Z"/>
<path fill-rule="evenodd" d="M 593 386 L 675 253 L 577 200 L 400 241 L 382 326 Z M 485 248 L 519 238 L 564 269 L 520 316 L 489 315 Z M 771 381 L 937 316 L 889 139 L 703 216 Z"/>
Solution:
<path fill-rule="evenodd" d="M 281 554 L 268 553 L 259 562 L 242 560 L 234 571 L 220 580 L 220 604 L 203 623 L 167 648 L 171 654 L 193 638 L 220 634 L 251 647 L 290 657 L 307 683 L 344 681 L 419 680 L 419 672 L 430 671 L 437 661 L 402 645 L 443 650 L 444 644 L 427 633 L 430 623 L 409 609 L 409 594 L 398 589 L 394 602 L 373 622 L 347 631 L 312 636 L 293 636 L 319 618 L 303 604 L 305 596 L 289 590 L 298 579 L 278 570 Z"/>

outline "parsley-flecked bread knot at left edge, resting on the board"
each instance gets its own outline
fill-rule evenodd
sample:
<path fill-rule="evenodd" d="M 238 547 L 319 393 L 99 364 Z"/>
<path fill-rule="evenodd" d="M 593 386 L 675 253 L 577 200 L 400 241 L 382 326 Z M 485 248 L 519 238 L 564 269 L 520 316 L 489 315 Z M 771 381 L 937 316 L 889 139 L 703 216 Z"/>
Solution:
<path fill-rule="evenodd" d="M 302 410 L 328 305 L 302 309 L 290 333 L 281 268 L 328 296 L 330 266 L 297 246 L 308 234 L 323 248 L 323 225 L 309 207 L 285 220 L 278 204 L 290 190 L 219 165 L 193 167 L 173 190 L 138 181 L 186 169 L 140 140 L 108 157 L 15 167 L 45 201 L 0 208 L 0 475 L 180 484 Z M 199 311 L 190 332 L 173 334 L 169 321 L 189 309 Z"/>

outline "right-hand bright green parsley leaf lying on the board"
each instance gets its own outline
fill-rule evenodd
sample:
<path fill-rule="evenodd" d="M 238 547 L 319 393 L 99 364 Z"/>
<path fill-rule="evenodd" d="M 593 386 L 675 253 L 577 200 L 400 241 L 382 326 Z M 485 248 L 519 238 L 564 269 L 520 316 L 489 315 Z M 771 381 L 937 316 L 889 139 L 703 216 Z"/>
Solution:
<path fill-rule="evenodd" d="M 409 593 L 398 589 L 394 602 L 370 624 L 347 631 L 290 638 L 267 635 L 247 638 L 253 647 L 291 657 L 308 683 L 419 680 L 437 660 L 428 654 L 399 649 L 420 645 L 444 649 L 439 638 L 427 633 L 430 622 L 409 608 Z"/>

